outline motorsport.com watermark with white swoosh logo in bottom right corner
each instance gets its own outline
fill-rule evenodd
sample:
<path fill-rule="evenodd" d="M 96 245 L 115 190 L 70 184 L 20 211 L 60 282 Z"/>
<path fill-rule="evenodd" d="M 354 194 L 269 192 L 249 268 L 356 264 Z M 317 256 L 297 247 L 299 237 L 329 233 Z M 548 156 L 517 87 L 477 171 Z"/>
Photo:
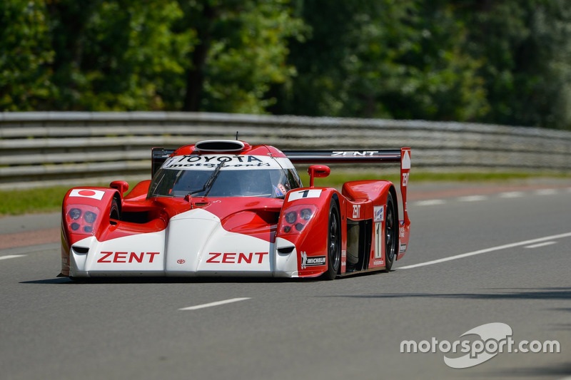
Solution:
<path fill-rule="evenodd" d="M 482 364 L 504 352 L 508 354 L 517 352 L 558 354 L 561 349 L 560 343 L 556 340 L 546 340 L 545 342 L 522 340 L 516 344 L 512 339 L 512 328 L 500 322 L 482 324 L 460 335 L 460 338 L 466 335 L 477 335 L 480 339 L 458 339 L 454 342 L 438 341 L 434 337 L 430 341 L 404 340 L 400 342 L 400 352 L 410 354 L 417 352 L 436 353 L 439 351 L 445 354 L 444 362 L 447 366 L 469 368 Z M 458 354 L 465 355 L 459 356 Z"/>

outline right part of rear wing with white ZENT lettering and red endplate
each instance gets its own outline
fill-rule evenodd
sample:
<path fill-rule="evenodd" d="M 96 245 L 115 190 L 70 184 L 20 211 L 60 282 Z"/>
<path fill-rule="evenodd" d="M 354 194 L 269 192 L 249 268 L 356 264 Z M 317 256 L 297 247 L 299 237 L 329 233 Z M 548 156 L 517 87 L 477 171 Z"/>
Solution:
<path fill-rule="evenodd" d="M 410 220 L 406 192 L 410 175 L 410 148 L 378 150 L 284 150 L 292 163 L 400 163 L 400 194 L 403 198 L 403 220 L 399 220 L 400 249 L 398 258 L 408 246 Z"/>

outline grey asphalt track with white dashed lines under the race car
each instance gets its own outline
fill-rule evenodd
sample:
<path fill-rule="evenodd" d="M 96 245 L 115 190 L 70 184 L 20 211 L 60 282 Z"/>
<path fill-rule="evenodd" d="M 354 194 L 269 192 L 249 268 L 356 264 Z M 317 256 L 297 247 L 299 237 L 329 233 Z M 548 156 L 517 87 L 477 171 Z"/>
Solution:
<path fill-rule="evenodd" d="M 82 284 L 56 278 L 54 242 L 2 249 L 0 379 L 571 376 L 571 182 L 411 192 L 410 248 L 395 270 L 332 282 Z M 11 237 L 58 223 L 0 219 Z M 400 352 L 403 340 L 455 342 L 492 322 L 515 342 L 557 340 L 560 353 L 502 352 L 453 369 L 443 357 L 460 355 L 438 347 Z"/>

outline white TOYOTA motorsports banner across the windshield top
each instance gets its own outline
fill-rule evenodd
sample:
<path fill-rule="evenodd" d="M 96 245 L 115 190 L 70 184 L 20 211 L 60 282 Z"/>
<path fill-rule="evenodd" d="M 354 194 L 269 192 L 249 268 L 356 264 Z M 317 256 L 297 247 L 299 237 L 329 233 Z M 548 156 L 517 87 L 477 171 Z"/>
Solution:
<path fill-rule="evenodd" d="M 166 160 L 163 168 L 211 170 L 222 162 L 222 170 L 279 168 L 273 158 L 263 155 L 177 155 Z"/>

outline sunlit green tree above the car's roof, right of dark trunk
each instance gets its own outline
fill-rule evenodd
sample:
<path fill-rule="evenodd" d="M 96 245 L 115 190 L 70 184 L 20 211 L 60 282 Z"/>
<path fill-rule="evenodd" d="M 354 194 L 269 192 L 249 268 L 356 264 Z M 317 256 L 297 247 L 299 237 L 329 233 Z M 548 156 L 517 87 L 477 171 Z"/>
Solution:
<path fill-rule="evenodd" d="M 285 63 L 288 38 L 300 41 L 304 26 L 285 0 L 179 0 L 181 29 L 198 43 L 186 62 L 186 111 L 264 113 L 272 83 L 295 74 Z"/>

